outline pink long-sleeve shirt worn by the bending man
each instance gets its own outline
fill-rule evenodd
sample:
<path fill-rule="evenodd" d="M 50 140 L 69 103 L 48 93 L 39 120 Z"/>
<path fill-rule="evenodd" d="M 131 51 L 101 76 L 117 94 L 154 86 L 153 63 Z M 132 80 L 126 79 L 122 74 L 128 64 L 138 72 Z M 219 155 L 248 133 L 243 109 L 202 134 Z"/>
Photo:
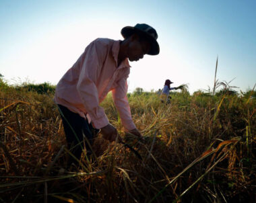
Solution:
<path fill-rule="evenodd" d="M 91 42 L 73 67 L 57 84 L 55 102 L 84 118 L 98 129 L 108 122 L 100 102 L 112 91 L 115 106 L 126 130 L 135 128 L 127 100 L 130 65 L 126 58 L 118 66 L 120 40 L 98 38 Z"/>

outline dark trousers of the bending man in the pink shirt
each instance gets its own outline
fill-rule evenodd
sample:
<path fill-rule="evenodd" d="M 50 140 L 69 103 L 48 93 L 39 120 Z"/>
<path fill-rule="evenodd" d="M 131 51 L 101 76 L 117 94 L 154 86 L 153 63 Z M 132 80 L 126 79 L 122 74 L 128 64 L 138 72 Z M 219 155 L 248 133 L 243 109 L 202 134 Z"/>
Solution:
<path fill-rule="evenodd" d="M 88 120 L 82 118 L 79 114 L 71 112 L 65 106 L 58 104 L 58 107 L 69 151 L 79 160 L 85 143 L 87 155 L 92 155 L 92 149 L 90 149 L 87 140 L 92 146 L 92 140 L 99 130 L 93 128 L 92 123 L 89 124 Z M 84 136 L 86 136 L 87 140 L 84 140 Z"/>

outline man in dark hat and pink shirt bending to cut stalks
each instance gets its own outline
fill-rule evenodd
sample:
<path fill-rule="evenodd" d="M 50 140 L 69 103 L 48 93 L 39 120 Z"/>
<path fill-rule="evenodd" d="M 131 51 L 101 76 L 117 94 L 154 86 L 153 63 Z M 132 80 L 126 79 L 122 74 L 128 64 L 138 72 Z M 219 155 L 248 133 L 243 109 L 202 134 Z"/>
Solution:
<path fill-rule="evenodd" d="M 91 42 L 57 84 L 55 102 L 61 112 L 69 149 L 78 159 L 84 147 L 83 134 L 90 142 L 93 132 L 99 129 L 107 140 L 113 141 L 118 136 L 117 129 L 108 122 L 99 106 L 109 91 L 113 93 L 125 130 L 141 137 L 131 118 L 126 97 L 130 73 L 128 59 L 134 61 L 145 54 L 158 54 L 158 34 L 147 24 L 127 26 L 121 34 L 125 38 L 123 41 L 98 38 Z M 88 146 L 86 150 L 90 153 Z"/>

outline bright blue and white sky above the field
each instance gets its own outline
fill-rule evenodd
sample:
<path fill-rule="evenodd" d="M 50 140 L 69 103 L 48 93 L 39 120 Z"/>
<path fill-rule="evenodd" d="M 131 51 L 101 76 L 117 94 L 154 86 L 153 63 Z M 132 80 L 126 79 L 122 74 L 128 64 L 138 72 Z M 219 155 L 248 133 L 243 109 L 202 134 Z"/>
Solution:
<path fill-rule="evenodd" d="M 123 39 L 125 26 L 158 32 L 160 54 L 130 63 L 129 91 L 220 81 L 242 91 L 256 83 L 256 1 L 0 1 L 0 73 L 9 83 L 57 84 L 96 38 Z M 236 89 L 239 90 L 239 89 Z"/>

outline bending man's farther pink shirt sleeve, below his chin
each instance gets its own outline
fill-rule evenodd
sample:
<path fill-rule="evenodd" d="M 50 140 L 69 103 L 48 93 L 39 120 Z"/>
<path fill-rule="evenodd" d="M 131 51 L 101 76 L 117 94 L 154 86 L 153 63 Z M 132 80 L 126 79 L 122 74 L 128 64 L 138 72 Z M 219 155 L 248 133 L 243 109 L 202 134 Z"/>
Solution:
<path fill-rule="evenodd" d="M 117 87 L 112 90 L 112 95 L 123 126 L 126 130 L 133 130 L 136 126 L 131 118 L 131 109 L 126 95 L 128 89 L 127 77 L 124 77 L 117 82 Z"/>

